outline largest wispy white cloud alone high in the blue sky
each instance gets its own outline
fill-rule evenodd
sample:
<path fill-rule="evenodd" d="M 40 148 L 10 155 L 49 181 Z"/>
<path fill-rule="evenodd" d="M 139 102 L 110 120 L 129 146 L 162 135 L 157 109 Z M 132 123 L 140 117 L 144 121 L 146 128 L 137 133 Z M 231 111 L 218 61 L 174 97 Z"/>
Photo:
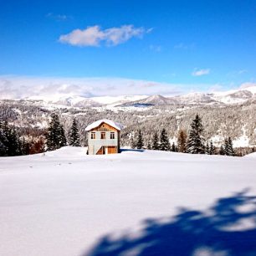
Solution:
<path fill-rule="evenodd" d="M 70 33 L 61 35 L 59 42 L 74 46 L 99 46 L 101 42 L 106 45 L 117 45 L 136 37 L 142 38 L 150 29 L 134 28 L 133 25 L 124 25 L 120 28 L 101 29 L 100 26 L 87 27 L 84 30 L 74 29 Z"/>

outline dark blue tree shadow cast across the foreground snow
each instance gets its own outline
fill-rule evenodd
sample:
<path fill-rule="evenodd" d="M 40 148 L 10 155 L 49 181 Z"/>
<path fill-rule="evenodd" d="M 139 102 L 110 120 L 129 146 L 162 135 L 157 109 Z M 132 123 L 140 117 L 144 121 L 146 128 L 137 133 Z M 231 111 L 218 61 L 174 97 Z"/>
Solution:
<path fill-rule="evenodd" d="M 219 198 L 207 211 L 182 208 L 169 222 L 143 223 L 136 237 L 105 235 L 83 256 L 256 255 L 256 197 L 248 190 Z"/>

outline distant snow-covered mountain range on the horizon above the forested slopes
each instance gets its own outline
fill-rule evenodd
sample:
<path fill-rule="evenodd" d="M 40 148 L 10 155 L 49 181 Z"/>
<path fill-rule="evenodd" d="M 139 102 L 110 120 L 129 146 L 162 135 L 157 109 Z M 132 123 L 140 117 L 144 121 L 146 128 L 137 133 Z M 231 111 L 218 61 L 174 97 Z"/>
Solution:
<path fill-rule="evenodd" d="M 152 105 L 233 105 L 254 101 L 256 86 L 245 89 L 213 93 L 189 93 L 167 97 L 163 95 L 118 95 L 84 97 L 79 95 L 54 95 L 52 97 L 29 97 L 27 100 L 43 100 L 53 105 L 72 107 L 131 107 Z"/>

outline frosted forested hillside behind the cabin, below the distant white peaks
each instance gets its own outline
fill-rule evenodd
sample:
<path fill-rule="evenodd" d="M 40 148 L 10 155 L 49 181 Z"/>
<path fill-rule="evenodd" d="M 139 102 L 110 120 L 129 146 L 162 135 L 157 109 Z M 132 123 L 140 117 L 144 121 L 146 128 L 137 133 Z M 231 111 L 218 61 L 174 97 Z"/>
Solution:
<path fill-rule="evenodd" d="M 60 107 L 47 105 L 43 101 L 1 100 L 0 118 L 18 129 L 20 136 L 27 138 L 44 136 L 49 126 L 49 116 L 56 112 L 64 125 L 67 135 L 74 117 L 78 122 L 80 141 L 86 145 L 84 128 L 91 122 L 110 119 L 124 125 L 121 132 L 121 145 L 131 146 L 132 137 L 141 130 L 145 145 L 154 132 L 165 128 L 167 136 L 177 141 L 179 130 L 189 131 L 195 115 L 202 118 L 204 136 L 220 146 L 224 138 L 230 136 L 234 146 L 256 146 L 256 104 L 236 105 L 158 105 L 138 108 L 113 107 Z"/>

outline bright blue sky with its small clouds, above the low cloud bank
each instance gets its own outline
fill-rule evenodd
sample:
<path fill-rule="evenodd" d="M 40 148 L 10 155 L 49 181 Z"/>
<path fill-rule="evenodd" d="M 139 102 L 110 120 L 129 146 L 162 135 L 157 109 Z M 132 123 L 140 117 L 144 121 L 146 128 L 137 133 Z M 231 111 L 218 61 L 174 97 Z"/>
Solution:
<path fill-rule="evenodd" d="M 229 89 L 256 79 L 256 1 L 1 1 L 0 76 Z"/>

